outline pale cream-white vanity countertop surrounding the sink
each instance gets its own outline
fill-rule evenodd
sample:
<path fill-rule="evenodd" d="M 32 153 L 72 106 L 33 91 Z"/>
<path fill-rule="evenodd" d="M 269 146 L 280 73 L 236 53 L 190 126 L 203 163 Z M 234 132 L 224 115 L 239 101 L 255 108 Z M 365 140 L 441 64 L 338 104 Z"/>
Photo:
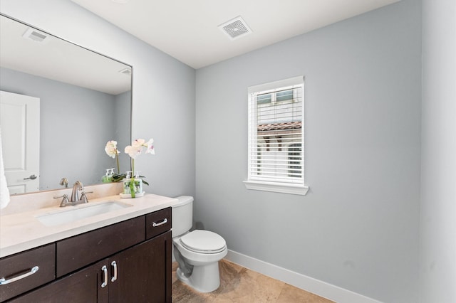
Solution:
<path fill-rule="evenodd" d="M 67 211 L 68 208 L 90 207 L 106 201 L 117 201 L 131 206 L 56 226 L 43 225 L 36 218 L 46 213 Z M 16 252 L 36 248 L 73 235 L 142 216 L 146 213 L 159 211 L 175 203 L 177 203 L 175 198 L 157 196 L 150 193 L 141 198 L 120 198 L 120 196 L 116 195 L 92 200 L 89 198 L 89 203 L 78 206 L 66 206 L 64 208 L 52 206 L 0 216 L 0 257 L 13 255 Z"/>

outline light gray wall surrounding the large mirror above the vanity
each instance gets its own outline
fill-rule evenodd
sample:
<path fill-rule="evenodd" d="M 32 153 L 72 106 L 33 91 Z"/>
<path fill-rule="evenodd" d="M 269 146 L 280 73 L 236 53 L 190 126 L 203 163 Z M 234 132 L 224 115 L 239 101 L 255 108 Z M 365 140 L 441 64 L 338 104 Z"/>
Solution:
<path fill-rule="evenodd" d="M 136 161 L 150 183 L 146 191 L 166 196 L 195 194 L 193 68 L 70 0 L 1 0 L 0 11 L 133 65 L 133 139 L 155 139 L 156 155 L 141 155 Z M 66 141 L 61 138 L 62 144 Z"/>

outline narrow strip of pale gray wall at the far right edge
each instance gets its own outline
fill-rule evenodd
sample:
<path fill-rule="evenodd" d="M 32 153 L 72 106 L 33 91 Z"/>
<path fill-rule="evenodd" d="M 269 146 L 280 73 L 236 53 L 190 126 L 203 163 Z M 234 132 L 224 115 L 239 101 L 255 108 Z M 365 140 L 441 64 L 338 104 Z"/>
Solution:
<path fill-rule="evenodd" d="M 456 1 L 423 0 L 420 302 L 456 302 Z"/>

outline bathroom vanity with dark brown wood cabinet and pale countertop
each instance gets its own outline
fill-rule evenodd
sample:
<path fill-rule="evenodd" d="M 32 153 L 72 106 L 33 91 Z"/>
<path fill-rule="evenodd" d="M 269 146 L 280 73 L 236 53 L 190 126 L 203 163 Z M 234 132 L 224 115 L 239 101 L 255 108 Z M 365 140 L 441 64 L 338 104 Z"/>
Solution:
<path fill-rule="evenodd" d="M 0 302 L 171 302 L 175 199 L 123 200 L 131 205 L 54 226 L 37 218 L 61 212 L 55 207 L 1 216 L 0 252 L 9 255 L 0 259 L 0 278 L 17 280 L 0 285 Z M 23 235 L 9 234 L 22 220 Z"/>

